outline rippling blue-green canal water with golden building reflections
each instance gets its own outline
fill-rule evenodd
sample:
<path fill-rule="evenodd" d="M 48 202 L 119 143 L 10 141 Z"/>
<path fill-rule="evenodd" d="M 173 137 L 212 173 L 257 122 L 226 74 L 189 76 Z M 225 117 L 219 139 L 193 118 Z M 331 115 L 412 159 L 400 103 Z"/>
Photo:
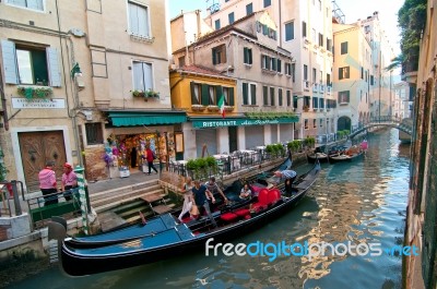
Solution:
<path fill-rule="evenodd" d="M 310 193 L 288 214 L 233 243 L 402 244 L 409 183 L 409 146 L 398 131 L 368 137 L 364 159 L 322 165 Z M 299 167 L 299 172 L 309 165 Z M 336 248 L 336 246 L 335 246 Z M 365 248 L 361 248 L 361 254 Z M 341 252 L 340 252 L 341 251 Z M 340 250 L 339 253 L 343 251 Z M 273 252 L 273 251 L 269 251 Z M 402 257 L 205 256 L 204 251 L 140 267 L 71 278 L 56 267 L 11 288 L 401 288 Z"/>

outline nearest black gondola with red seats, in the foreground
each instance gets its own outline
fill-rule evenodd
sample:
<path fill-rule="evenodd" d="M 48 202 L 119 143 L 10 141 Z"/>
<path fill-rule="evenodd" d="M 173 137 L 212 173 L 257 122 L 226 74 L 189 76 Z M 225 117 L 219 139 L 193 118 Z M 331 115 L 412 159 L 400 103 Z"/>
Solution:
<path fill-rule="evenodd" d="M 211 244 L 229 241 L 258 230 L 262 225 L 288 212 L 305 196 L 319 172 L 320 164 L 317 161 L 307 173 L 294 182 L 291 195 L 276 188 L 263 188 L 255 203 L 238 209 L 215 212 L 213 217 L 218 225 L 215 228 L 209 218 L 204 218 L 193 225 L 179 224 L 154 234 L 87 249 L 72 248 L 61 237 L 59 240 L 61 267 L 71 276 L 91 275 L 180 256 L 204 248 L 211 238 L 213 238 Z M 52 222 L 52 226 L 51 230 L 63 228 L 57 222 Z"/>

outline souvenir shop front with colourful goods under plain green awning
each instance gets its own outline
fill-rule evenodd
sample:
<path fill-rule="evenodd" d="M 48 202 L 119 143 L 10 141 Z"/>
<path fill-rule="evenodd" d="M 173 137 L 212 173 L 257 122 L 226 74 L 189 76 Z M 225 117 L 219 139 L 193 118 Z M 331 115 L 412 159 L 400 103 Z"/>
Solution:
<path fill-rule="evenodd" d="M 131 170 L 147 172 L 146 148 L 155 162 L 168 164 L 176 159 L 177 147 L 184 147 L 180 125 L 185 112 L 108 111 L 108 136 L 105 142 L 105 161 L 109 177 L 129 177 Z"/>

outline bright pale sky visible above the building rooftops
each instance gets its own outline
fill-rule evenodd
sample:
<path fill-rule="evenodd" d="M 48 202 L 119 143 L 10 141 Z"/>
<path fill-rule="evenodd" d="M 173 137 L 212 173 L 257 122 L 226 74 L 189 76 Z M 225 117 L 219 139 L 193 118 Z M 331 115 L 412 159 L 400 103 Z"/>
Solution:
<path fill-rule="evenodd" d="M 212 1 L 210 0 L 210 4 Z M 364 20 L 378 11 L 379 20 L 386 27 L 394 55 L 400 53 L 398 11 L 404 0 L 335 0 L 335 2 L 345 15 L 346 23 L 356 22 L 358 19 Z M 200 9 L 204 13 L 206 9 L 206 0 L 168 0 L 168 4 L 170 19 L 179 15 L 181 10 L 188 12 Z"/>

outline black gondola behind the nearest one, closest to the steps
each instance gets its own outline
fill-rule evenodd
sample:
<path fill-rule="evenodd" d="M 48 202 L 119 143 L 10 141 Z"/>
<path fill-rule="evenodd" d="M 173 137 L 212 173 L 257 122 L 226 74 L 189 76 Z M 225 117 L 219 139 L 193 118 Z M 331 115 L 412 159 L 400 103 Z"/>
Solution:
<path fill-rule="evenodd" d="M 292 166 L 292 158 L 288 157 L 279 166 L 274 167 L 270 171 L 262 172 L 258 174 L 259 179 L 265 179 L 271 177 L 275 170 L 284 170 Z M 257 178 L 257 177 L 256 177 Z M 236 180 L 231 185 L 226 186 L 223 192 L 229 200 L 238 198 L 239 192 L 244 185 L 244 182 L 249 181 L 252 182 L 251 179 L 248 180 Z M 217 200 L 221 196 L 217 195 Z M 220 204 L 216 204 L 220 206 Z M 241 206 L 247 205 L 247 202 L 233 202 L 231 206 L 227 206 L 226 209 L 238 209 Z M 64 243 L 68 244 L 70 248 L 97 248 L 104 246 L 120 242 L 126 242 L 129 240 L 138 239 L 138 238 L 145 238 L 149 236 L 154 236 L 158 232 L 166 231 L 169 228 L 174 228 L 178 225 L 175 216 L 178 216 L 180 209 L 175 209 L 173 214 L 164 214 L 162 216 L 156 216 L 146 220 L 146 224 L 134 224 L 126 227 L 120 227 L 115 230 L 110 230 L 108 232 L 94 234 L 94 236 L 86 236 L 86 237 L 72 237 L 67 238 Z M 189 221 L 189 226 L 193 225 L 196 221 Z"/>

